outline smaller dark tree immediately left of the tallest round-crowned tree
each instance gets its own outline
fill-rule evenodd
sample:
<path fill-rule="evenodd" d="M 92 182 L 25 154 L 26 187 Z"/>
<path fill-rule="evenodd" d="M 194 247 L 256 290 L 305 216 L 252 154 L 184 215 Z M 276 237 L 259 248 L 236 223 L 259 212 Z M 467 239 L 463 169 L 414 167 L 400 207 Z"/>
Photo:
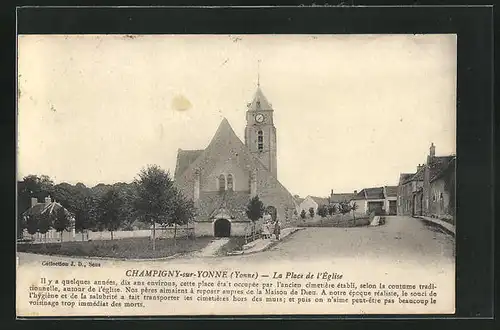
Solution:
<path fill-rule="evenodd" d="M 113 232 L 120 227 L 122 207 L 123 200 L 114 188 L 105 193 L 99 201 L 98 222 L 111 233 L 111 239 Z"/>

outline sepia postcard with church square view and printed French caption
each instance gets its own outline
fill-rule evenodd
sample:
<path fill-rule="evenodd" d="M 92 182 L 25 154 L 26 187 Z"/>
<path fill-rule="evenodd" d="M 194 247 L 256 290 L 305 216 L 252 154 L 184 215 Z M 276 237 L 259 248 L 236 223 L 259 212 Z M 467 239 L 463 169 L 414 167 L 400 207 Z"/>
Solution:
<path fill-rule="evenodd" d="M 455 313 L 455 34 L 17 47 L 18 316 Z"/>

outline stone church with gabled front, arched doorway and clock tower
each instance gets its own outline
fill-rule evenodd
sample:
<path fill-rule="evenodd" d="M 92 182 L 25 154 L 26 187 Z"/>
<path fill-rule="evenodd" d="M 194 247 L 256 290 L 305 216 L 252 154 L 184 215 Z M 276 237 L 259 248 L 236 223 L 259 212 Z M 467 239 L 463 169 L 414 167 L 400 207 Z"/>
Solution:
<path fill-rule="evenodd" d="M 258 86 L 247 105 L 244 143 L 224 118 L 205 149 L 178 150 L 174 179 L 195 203 L 197 236 L 244 235 L 253 196 L 276 208 L 283 227 L 294 216 L 294 198 L 278 181 L 273 112 Z"/>

